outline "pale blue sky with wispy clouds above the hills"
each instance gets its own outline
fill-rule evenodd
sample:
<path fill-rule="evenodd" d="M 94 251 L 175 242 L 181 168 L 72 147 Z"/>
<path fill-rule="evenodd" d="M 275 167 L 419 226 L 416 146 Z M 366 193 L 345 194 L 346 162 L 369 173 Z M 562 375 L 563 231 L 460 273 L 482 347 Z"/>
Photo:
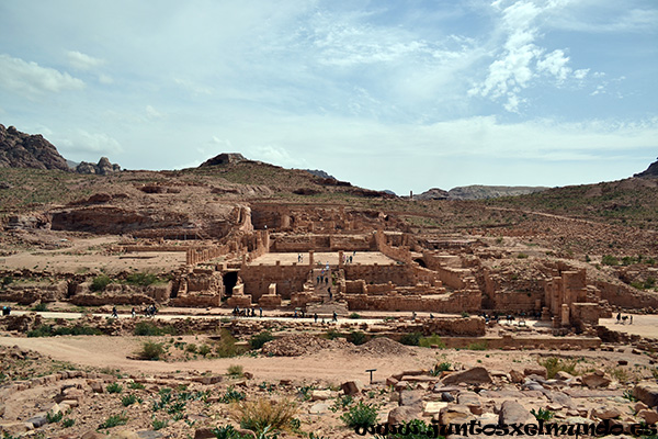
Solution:
<path fill-rule="evenodd" d="M 0 123 L 125 169 L 617 180 L 658 156 L 656 0 L 0 2 Z"/>

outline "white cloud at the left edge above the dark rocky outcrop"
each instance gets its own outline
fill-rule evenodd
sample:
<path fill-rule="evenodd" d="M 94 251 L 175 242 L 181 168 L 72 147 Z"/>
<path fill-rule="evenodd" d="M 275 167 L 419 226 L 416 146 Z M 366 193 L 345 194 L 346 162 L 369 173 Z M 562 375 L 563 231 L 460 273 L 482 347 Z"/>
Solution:
<path fill-rule="evenodd" d="M 81 79 L 36 63 L 0 55 L 0 86 L 29 98 L 45 92 L 61 92 L 84 88 Z"/>

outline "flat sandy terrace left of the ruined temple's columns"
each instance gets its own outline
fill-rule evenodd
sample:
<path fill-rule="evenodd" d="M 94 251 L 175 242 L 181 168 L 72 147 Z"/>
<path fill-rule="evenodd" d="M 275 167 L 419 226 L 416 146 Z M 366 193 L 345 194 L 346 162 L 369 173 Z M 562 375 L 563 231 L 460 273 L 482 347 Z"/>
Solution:
<path fill-rule="evenodd" d="M 66 239 L 66 240 L 59 240 Z M 117 236 L 95 238 L 57 238 L 63 248 L 30 250 L 0 258 L 0 269 L 49 270 L 54 272 L 105 272 L 125 270 L 169 271 L 185 263 L 184 251 L 144 251 L 123 255 L 103 255 L 103 246 L 116 244 Z"/>

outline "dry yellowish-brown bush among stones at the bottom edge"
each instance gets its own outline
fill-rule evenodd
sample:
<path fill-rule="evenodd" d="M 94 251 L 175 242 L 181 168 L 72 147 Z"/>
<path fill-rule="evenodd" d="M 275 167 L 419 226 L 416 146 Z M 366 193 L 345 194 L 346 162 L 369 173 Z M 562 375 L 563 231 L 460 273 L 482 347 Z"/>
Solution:
<path fill-rule="evenodd" d="M 259 398 L 236 403 L 234 407 L 234 417 L 240 427 L 256 431 L 257 436 L 290 429 L 296 414 L 297 407 L 291 399 Z"/>

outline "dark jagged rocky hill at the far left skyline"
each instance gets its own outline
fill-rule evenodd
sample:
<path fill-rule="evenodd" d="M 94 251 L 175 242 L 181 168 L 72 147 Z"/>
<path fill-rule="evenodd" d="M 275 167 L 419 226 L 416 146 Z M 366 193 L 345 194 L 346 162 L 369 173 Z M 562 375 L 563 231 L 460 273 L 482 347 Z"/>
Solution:
<path fill-rule="evenodd" d="M 30 135 L 1 124 L 0 168 L 69 170 L 66 159 L 41 134 Z"/>

